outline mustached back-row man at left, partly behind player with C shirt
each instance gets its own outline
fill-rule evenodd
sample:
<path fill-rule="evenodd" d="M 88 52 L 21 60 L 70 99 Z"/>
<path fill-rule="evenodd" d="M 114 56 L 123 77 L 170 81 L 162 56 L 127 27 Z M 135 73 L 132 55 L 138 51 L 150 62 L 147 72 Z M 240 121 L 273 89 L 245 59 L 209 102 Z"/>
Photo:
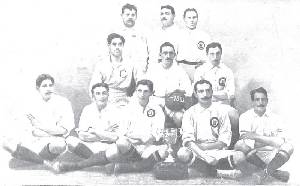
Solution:
<path fill-rule="evenodd" d="M 113 32 L 120 33 L 126 40 L 123 56 L 129 57 L 137 69 L 138 79 L 147 71 L 148 66 L 148 46 L 147 39 L 142 29 L 136 24 L 137 7 L 125 4 L 122 7 L 122 25 Z"/>

